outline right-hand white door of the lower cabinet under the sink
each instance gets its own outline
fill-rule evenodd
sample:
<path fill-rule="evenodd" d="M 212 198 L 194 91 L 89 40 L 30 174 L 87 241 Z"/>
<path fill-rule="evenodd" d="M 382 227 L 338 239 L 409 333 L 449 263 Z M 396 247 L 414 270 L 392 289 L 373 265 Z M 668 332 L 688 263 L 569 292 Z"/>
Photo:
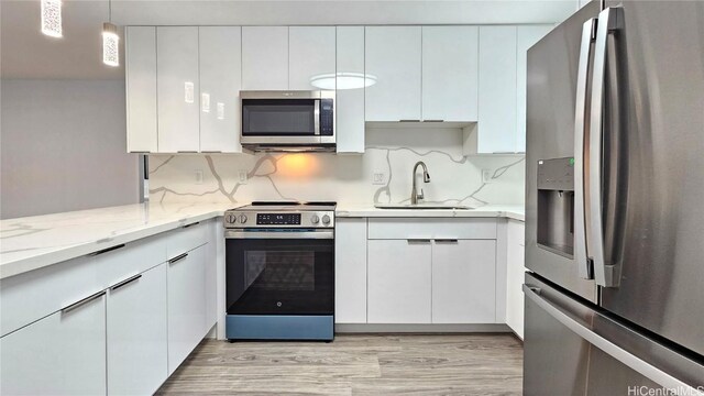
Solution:
<path fill-rule="evenodd" d="M 435 240 L 432 322 L 496 321 L 496 241 Z"/>

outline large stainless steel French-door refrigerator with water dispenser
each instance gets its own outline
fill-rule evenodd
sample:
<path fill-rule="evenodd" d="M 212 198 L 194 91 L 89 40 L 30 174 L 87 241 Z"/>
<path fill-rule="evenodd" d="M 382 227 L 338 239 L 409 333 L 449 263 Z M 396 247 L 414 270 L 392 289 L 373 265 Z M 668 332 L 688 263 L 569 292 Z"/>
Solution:
<path fill-rule="evenodd" d="M 526 395 L 704 394 L 704 1 L 528 51 Z"/>

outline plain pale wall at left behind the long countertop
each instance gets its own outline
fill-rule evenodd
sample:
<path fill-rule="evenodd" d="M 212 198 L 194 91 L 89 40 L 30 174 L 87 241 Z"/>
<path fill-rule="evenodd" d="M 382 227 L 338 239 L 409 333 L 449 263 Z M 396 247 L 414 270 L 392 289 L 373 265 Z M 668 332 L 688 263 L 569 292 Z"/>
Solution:
<path fill-rule="evenodd" d="M 139 201 L 124 81 L 2 80 L 0 218 Z"/>

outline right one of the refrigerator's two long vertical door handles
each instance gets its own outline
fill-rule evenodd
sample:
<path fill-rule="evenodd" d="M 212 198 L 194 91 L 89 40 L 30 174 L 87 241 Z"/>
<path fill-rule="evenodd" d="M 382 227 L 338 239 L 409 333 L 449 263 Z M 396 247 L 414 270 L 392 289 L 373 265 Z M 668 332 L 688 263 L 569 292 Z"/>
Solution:
<path fill-rule="evenodd" d="M 618 287 L 616 266 L 606 263 L 604 252 L 604 222 L 602 218 L 602 158 L 604 133 L 604 85 L 606 73 L 606 41 L 609 34 L 623 23 L 620 8 L 607 8 L 598 14 L 594 48 L 594 72 L 592 75 L 592 106 L 590 119 L 588 145 L 588 217 L 590 217 L 590 257 L 594 263 L 594 278 L 603 287 Z"/>

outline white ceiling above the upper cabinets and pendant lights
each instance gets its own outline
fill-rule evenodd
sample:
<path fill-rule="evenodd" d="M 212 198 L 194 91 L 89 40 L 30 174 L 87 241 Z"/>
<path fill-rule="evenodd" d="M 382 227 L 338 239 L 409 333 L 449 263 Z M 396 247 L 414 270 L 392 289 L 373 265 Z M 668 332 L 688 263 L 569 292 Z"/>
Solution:
<path fill-rule="evenodd" d="M 556 23 L 576 0 L 113 0 L 119 25 Z M 101 62 L 108 0 L 64 0 L 63 38 L 40 32 L 40 0 L 0 0 L 2 78 L 121 79 Z M 121 43 L 122 44 L 122 43 Z M 121 54 L 122 55 L 122 54 Z"/>

